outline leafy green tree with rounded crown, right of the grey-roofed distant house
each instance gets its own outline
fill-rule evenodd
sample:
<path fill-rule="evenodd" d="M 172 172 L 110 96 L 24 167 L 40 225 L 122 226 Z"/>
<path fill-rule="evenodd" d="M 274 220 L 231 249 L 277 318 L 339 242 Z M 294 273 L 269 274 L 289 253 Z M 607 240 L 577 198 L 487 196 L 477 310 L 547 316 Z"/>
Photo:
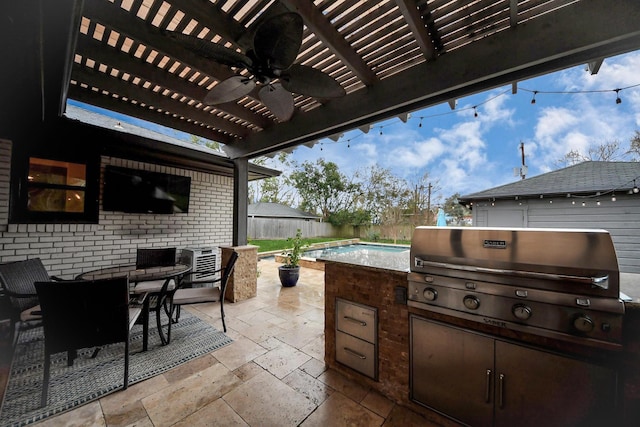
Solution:
<path fill-rule="evenodd" d="M 332 213 L 351 209 L 360 194 L 360 186 L 341 174 L 337 164 L 322 158 L 297 166 L 290 179 L 301 198 L 300 208 L 319 212 L 325 220 Z"/>

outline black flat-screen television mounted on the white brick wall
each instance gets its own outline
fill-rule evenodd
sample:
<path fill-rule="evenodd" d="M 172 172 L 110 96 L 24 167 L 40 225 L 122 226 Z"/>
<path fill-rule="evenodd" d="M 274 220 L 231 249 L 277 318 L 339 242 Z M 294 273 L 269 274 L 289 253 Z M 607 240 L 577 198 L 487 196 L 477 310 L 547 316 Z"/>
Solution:
<path fill-rule="evenodd" d="M 186 213 L 191 177 L 107 166 L 102 206 L 128 213 Z"/>

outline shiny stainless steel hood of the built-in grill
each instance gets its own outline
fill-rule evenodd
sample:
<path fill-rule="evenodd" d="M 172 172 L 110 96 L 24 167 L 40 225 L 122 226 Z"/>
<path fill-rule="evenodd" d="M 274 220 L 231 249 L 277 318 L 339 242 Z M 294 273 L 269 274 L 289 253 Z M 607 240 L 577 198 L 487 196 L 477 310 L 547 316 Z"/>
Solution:
<path fill-rule="evenodd" d="M 618 260 L 606 230 L 417 227 L 411 271 L 558 292 L 619 297 Z"/>

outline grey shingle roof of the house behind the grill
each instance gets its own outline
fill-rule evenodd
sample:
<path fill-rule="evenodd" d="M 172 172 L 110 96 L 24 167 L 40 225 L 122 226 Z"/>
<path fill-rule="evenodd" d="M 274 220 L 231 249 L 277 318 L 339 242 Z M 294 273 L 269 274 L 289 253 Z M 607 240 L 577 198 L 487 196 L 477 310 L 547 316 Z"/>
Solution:
<path fill-rule="evenodd" d="M 619 191 L 640 185 L 640 162 L 584 162 L 564 169 L 547 172 L 477 193 L 461 196 L 461 200 L 553 196 L 594 192 Z"/>

